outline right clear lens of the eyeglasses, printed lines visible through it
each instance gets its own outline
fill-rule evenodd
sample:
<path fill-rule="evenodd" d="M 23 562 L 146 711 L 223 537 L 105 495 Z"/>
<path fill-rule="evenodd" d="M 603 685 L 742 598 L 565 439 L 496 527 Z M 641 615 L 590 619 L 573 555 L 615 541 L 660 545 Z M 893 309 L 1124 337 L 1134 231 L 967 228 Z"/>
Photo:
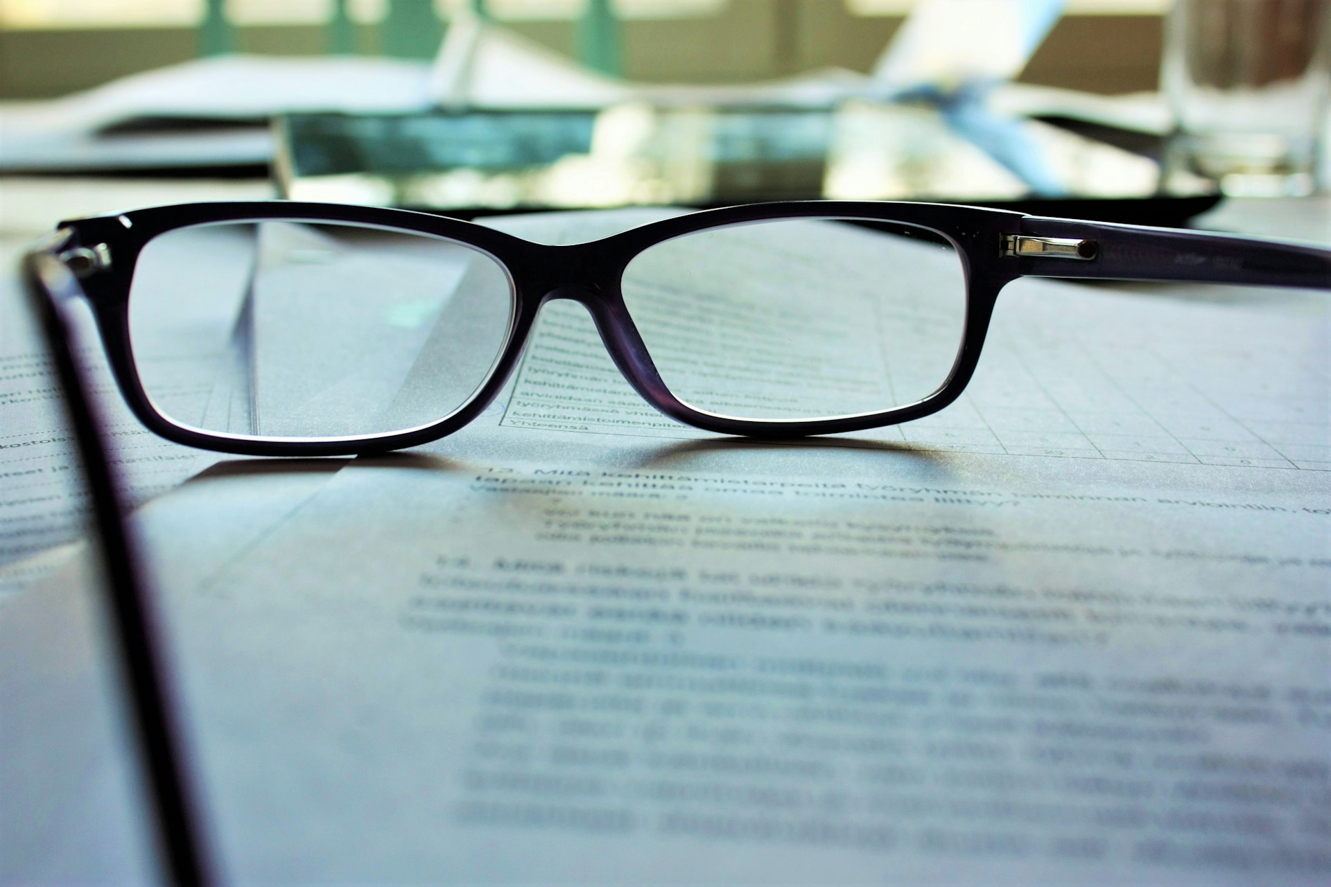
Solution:
<path fill-rule="evenodd" d="M 965 271 L 946 239 L 833 219 L 666 241 L 634 258 L 623 294 L 671 392 L 739 419 L 921 400 L 948 380 L 966 319 Z"/>

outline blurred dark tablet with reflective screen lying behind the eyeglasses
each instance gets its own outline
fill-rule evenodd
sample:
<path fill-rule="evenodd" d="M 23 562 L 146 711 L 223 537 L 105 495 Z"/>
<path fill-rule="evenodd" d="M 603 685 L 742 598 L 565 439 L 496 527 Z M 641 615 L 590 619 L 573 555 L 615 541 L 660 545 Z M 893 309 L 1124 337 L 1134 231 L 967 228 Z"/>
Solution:
<path fill-rule="evenodd" d="M 1037 189 L 910 105 L 290 114 L 274 125 L 284 197 L 461 217 L 825 198 L 1177 226 L 1219 201 L 1206 184 L 1161 194 L 1147 154 L 1021 121 L 1013 136 L 1049 172 Z"/>

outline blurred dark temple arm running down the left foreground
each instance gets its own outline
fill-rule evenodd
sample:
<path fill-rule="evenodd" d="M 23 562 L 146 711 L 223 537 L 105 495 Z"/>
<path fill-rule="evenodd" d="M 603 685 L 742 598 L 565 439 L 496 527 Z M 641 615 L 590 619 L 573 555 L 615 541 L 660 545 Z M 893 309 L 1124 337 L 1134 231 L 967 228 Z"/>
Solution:
<path fill-rule="evenodd" d="M 57 253 L 68 239 L 69 231 L 59 231 L 48 245 L 28 253 L 20 269 L 23 285 L 45 336 L 88 484 L 93 539 L 105 569 L 112 632 L 129 696 L 129 715 L 138 734 L 162 874 L 173 884 L 206 886 L 214 883 L 214 878 L 204 852 L 200 807 L 190 797 L 185 774 L 182 731 L 164 669 L 162 633 L 140 577 L 133 540 L 121 517 L 120 492 L 106 459 L 101 423 L 88 396 L 83 370 L 73 358 L 65 305 L 79 287 Z"/>

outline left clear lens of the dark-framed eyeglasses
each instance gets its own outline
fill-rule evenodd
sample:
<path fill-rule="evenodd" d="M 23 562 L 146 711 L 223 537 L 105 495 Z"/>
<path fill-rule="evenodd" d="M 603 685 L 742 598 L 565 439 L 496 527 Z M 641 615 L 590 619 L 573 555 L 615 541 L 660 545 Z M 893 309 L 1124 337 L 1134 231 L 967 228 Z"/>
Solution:
<path fill-rule="evenodd" d="M 168 231 L 134 269 L 129 332 L 173 422 L 258 438 L 405 431 L 457 411 L 508 335 L 512 287 L 441 238 L 326 222 Z"/>

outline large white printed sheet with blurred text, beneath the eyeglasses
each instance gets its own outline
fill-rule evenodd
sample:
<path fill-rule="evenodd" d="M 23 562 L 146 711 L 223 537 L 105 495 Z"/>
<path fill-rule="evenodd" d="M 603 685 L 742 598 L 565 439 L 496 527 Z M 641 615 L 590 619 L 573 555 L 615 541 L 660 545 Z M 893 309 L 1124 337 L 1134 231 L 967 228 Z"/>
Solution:
<path fill-rule="evenodd" d="M 780 444 L 644 422 L 548 309 L 242 545 L 142 512 L 229 875 L 1326 883 L 1324 294 L 1025 281 L 961 403 Z"/>

